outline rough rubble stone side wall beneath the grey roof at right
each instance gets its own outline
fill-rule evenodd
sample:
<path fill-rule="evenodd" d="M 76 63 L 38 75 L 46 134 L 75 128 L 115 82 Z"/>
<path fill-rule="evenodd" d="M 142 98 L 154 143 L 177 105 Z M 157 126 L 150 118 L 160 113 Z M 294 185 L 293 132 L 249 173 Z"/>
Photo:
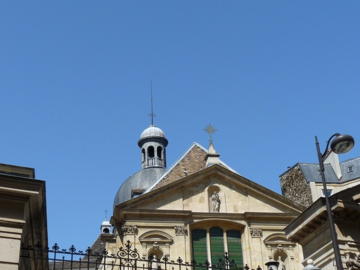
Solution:
<path fill-rule="evenodd" d="M 310 186 L 306 183 L 299 164 L 280 176 L 283 196 L 306 207 L 313 203 Z"/>

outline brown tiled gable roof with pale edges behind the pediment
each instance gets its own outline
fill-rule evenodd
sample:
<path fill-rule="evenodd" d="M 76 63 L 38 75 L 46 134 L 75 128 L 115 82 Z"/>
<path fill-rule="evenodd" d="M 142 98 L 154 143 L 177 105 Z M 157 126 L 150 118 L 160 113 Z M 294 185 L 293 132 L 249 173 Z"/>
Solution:
<path fill-rule="evenodd" d="M 158 189 L 167 184 L 173 183 L 180 178 L 183 178 L 187 175 L 198 172 L 206 168 L 205 157 L 208 154 L 208 150 L 202 147 L 200 144 L 194 142 L 184 154 L 169 168 L 167 171 L 144 193 L 150 192 L 152 190 Z M 219 165 L 237 173 L 235 170 L 230 168 L 224 162 L 219 160 Z M 186 172 L 184 172 L 186 170 Z"/>

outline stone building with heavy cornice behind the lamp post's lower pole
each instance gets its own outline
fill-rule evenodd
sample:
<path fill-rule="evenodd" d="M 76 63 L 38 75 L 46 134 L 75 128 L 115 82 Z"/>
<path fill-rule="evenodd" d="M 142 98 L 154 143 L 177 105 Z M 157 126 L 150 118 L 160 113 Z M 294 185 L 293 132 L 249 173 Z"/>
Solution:
<path fill-rule="evenodd" d="M 360 185 L 334 193 L 329 200 L 343 264 L 341 269 L 359 269 Z M 290 241 L 301 244 L 304 261 L 312 259 L 313 265 L 323 270 L 335 269 L 335 256 L 323 197 L 317 199 L 284 231 Z"/>

